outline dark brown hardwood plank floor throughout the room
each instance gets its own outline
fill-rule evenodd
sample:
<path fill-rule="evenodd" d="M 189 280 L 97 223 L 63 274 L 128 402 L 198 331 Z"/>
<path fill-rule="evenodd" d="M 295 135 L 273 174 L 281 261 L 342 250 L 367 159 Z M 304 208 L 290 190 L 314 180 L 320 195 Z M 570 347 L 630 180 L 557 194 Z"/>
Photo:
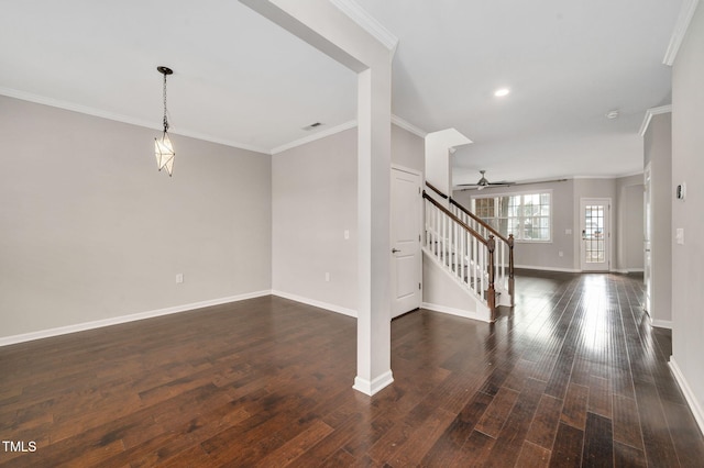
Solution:
<path fill-rule="evenodd" d="M 2 347 L 0 438 L 36 449 L 0 466 L 704 466 L 642 278 L 516 291 L 493 325 L 393 321 L 372 398 L 355 321 L 275 297 Z"/>

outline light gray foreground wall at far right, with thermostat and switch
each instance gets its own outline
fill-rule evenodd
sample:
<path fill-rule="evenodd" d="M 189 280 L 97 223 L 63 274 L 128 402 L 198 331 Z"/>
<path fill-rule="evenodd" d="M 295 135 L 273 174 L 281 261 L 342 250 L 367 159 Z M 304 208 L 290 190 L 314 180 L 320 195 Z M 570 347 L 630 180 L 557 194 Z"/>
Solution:
<path fill-rule="evenodd" d="M 700 2 L 672 69 L 672 183 L 688 182 L 686 200 L 672 198 L 672 359 L 704 431 L 704 7 Z"/>

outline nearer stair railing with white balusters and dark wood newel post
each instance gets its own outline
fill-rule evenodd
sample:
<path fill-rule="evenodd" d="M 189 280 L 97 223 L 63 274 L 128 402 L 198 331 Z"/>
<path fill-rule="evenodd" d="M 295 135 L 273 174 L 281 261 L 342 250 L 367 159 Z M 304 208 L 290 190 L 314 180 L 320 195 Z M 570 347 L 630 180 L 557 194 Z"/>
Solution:
<path fill-rule="evenodd" d="M 422 192 L 426 213 L 426 250 L 458 280 L 486 301 L 496 319 L 496 290 L 493 234 L 484 237 L 450 210 Z"/>

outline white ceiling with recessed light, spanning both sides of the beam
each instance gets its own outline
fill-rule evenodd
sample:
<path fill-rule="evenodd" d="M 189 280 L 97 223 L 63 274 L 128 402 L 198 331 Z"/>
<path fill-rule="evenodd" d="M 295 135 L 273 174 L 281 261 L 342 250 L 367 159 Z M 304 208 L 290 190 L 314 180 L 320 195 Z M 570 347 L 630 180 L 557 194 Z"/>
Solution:
<path fill-rule="evenodd" d="M 320 0 L 323 1 L 323 0 Z M 455 183 L 620 176 L 670 102 L 682 0 L 356 0 L 399 38 L 393 112 L 455 127 Z M 355 119 L 352 71 L 234 0 L 0 0 L 0 93 L 262 152 Z M 496 88 L 509 87 L 498 99 Z M 605 114 L 620 111 L 616 120 Z"/>

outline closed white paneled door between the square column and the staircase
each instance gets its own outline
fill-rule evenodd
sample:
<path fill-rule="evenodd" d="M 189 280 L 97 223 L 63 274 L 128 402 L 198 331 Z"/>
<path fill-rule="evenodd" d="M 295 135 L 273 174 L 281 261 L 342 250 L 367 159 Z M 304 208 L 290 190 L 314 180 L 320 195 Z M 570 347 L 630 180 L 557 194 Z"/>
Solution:
<path fill-rule="evenodd" d="M 392 168 L 392 317 L 418 309 L 422 299 L 420 179 L 420 174 Z"/>

